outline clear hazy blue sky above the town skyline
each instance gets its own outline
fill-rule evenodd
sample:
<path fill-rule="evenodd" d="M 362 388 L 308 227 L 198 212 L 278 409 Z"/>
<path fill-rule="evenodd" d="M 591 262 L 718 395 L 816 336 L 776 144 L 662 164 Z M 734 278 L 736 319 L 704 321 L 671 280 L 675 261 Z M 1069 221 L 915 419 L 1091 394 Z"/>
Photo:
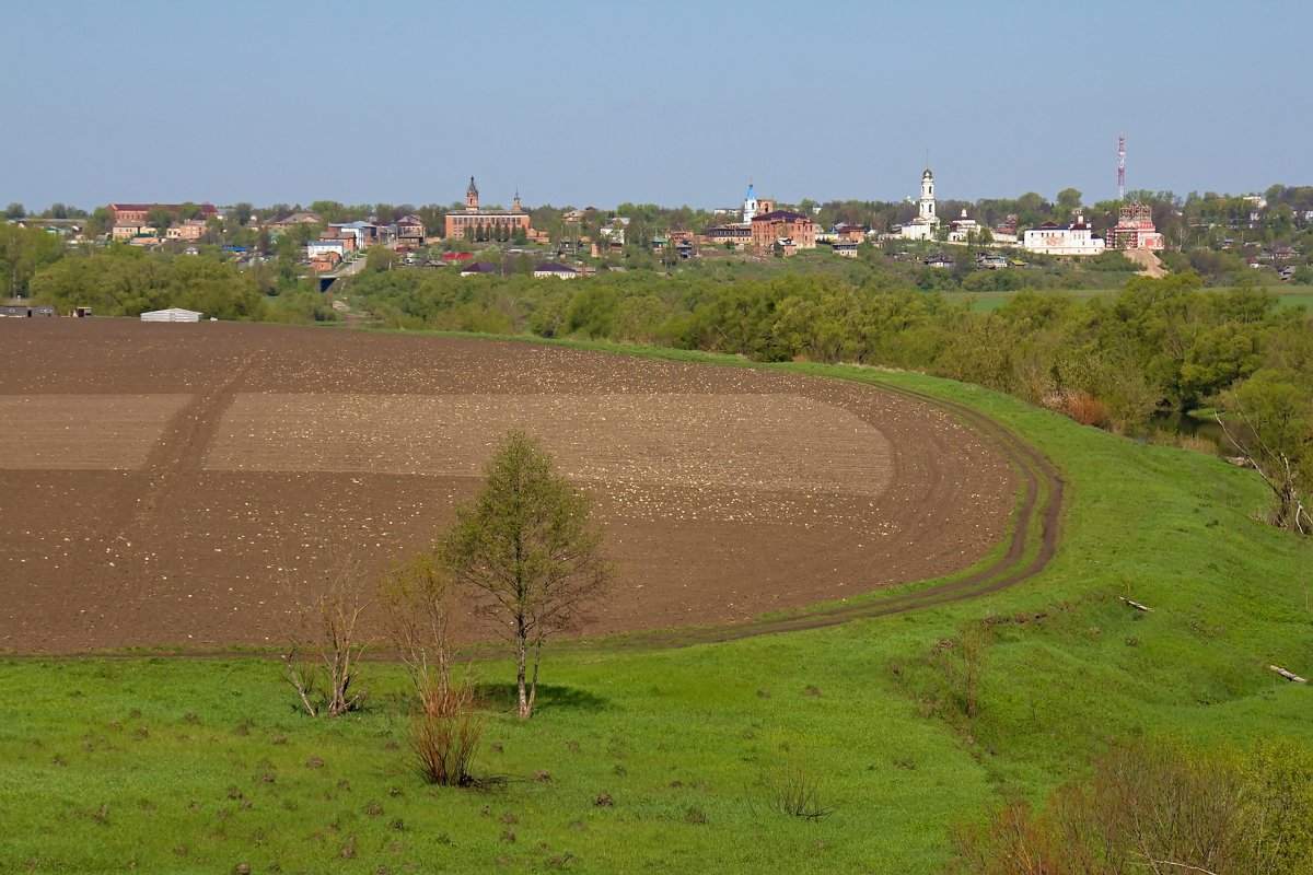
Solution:
<path fill-rule="evenodd" d="M 1313 182 L 1313 3 L 5 3 L 0 205 Z"/>

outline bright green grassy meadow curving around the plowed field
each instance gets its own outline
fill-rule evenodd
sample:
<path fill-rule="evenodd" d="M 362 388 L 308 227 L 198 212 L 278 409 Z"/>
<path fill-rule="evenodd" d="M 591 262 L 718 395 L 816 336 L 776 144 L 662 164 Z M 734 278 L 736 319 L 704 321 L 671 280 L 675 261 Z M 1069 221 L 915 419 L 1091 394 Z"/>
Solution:
<path fill-rule="evenodd" d="M 776 367 L 930 392 L 1023 434 L 1067 483 L 1054 560 L 1002 593 L 830 628 L 549 649 L 523 724 L 509 662 L 481 661 L 482 790 L 412 771 L 395 665 L 369 666 L 362 712 L 315 720 L 267 657 L 0 661 L 0 871 L 935 872 L 953 824 L 1043 800 L 1109 745 L 1313 743 L 1310 691 L 1267 668 L 1313 672 L 1313 550 L 1257 518 L 1253 472 L 948 380 Z M 783 813 L 798 790 L 825 816 Z"/>

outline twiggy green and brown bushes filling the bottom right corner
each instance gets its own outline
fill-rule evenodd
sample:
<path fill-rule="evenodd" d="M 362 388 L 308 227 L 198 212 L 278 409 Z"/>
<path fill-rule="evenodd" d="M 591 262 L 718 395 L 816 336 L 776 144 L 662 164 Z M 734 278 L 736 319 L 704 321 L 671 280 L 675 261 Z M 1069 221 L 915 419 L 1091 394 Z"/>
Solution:
<path fill-rule="evenodd" d="M 1041 811 L 1024 802 L 955 833 L 953 875 L 1313 871 L 1313 753 L 1263 741 L 1243 753 L 1113 750 Z"/>

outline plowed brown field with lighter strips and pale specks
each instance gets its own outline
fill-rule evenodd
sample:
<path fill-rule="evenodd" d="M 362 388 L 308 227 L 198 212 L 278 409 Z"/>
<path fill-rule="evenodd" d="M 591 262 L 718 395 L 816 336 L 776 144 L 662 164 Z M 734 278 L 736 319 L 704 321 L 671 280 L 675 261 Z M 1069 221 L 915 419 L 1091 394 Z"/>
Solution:
<path fill-rule="evenodd" d="M 621 573 L 592 632 L 951 573 L 1001 542 L 1016 496 L 970 429 L 840 380 L 523 342 L 0 320 L 0 649 L 281 644 L 334 555 L 373 573 L 431 544 L 511 428 L 595 495 Z"/>

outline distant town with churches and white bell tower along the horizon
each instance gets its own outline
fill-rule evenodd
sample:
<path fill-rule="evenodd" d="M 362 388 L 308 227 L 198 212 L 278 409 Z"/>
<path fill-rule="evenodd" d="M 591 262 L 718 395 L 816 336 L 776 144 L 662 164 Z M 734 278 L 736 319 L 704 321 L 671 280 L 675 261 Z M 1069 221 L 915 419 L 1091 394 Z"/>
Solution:
<path fill-rule="evenodd" d="M 463 201 L 450 206 L 320 201 L 307 207 L 256 209 L 249 203 L 116 202 L 92 213 L 55 205 L 29 214 L 11 203 L 5 218 L 68 244 L 121 243 L 181 254 L 219 247 L 239 266 L 277 252 L 326 277 L 349 273 L 370 247 L 397 253 L 402 265 L 465 275 L 499 270 L 475 257 L 478 249 L 492 247 L 536 256 L 533 275 L 554 278 L 620 266 L 618 256 L 634 251 L 650 253 L 653 266 L 670 268 L 708 254 L 790 257 L 818 248 L 856 258 L 863 247 L 880 247 L 892 257 L 915 258 L 932 269 L 958 268 L 965 257 L 970 269 L 982 270 L 1023 268 L 1036 254 L 1095 258 L 1121 252 L 1150 264 L 1142 253 L 1230 251 L 1280 281 L 1308 281 L 1304 235 L 1313 223 L 1313 186 L 1275 185 L 1263 194 L 1236 197 L 1121 194 L 1088 207 L 1074 189 L 1053 201 L 1032 193 L 969 203 L 940 198 L 935 174 L 926 167 L 919 197 L 903 202 L 783 205 L 750 182 L 741 205 L 713 210 L 632 203 L 614 210 L 528 209 L 517 190 L 507 209 L 487 205 L 470 177 Z M 297 249 L 276 247 L 280 239 L 294 240 Z"/>

